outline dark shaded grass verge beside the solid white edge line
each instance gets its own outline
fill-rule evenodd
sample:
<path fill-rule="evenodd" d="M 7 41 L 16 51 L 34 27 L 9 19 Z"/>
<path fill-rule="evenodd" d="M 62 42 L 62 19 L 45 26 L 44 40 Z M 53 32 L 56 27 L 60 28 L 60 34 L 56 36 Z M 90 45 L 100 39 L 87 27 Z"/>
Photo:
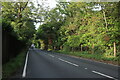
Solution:
<path fill-rule="evenodd" d="M 24 63 L 26 50 L 22 51 L 15 58 L 11 59 L 8 63 L 3 65 L 2 77 L 8 78 L 16 72 Z"/>

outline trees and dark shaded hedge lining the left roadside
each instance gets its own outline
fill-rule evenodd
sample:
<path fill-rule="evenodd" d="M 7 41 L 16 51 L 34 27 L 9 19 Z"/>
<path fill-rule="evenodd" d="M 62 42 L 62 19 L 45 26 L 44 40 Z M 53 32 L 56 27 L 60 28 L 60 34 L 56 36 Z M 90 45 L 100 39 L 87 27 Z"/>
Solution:
<path fill-rule="evenodd" d="M 33 3 L 1 2 L 1 5 L 4 64 L 31 45 L 36 30 Z"/>

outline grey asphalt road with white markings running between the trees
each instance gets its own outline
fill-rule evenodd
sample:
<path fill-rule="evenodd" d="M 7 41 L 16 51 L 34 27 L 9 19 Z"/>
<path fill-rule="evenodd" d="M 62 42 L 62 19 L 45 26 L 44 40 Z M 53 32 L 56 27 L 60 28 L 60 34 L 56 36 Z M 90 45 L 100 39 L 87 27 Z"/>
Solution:
<path fill-rule="evenodd" d="M 24 78 L 106 78 L 118 80 L 118 66 L 34 49 L 27 53 L 22 76 Z"/>

